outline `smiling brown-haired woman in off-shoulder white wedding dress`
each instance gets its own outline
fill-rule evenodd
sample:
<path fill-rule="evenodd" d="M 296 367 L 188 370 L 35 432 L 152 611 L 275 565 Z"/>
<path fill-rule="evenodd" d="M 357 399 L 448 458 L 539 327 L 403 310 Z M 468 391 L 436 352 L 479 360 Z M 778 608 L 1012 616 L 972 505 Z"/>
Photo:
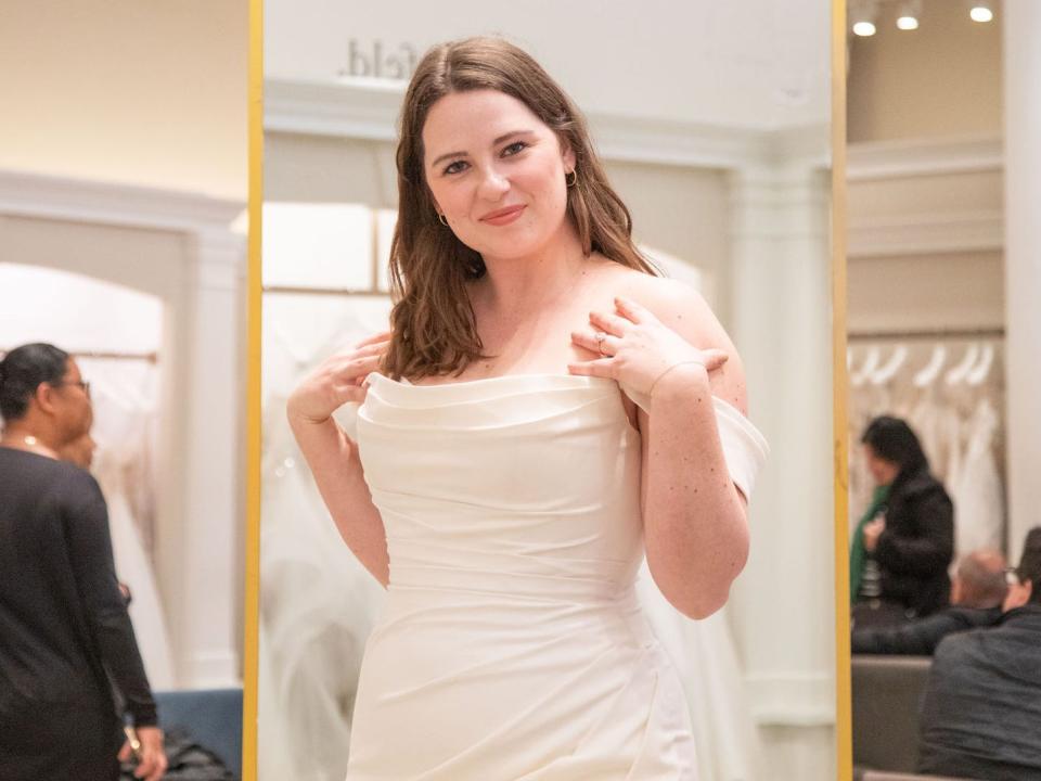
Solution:
<path fill-rule="evenodd" d="M 764 443 L 733 345 L 640 257 L 581 116 L 519 49 L 430 50 L 397 162 L 393 330 L 287 405 L 388 588 L 348 778 L 693 778 L 632 584 L 645 549 L 704 617 L 745 563 Z M 331 418 L 348 401 L 357 441 Z"/>

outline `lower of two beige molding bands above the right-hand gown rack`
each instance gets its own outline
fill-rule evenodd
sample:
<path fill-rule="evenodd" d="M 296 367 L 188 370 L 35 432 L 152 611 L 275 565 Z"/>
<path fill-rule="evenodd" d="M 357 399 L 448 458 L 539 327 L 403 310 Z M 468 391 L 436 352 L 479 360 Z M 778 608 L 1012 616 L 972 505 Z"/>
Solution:
<path fill-rule="evenodd" d="M 875 218 L 847 230 L 850 258 L 1001 252 L 1004 244 L 1002 213 L 989 209 Z"/>

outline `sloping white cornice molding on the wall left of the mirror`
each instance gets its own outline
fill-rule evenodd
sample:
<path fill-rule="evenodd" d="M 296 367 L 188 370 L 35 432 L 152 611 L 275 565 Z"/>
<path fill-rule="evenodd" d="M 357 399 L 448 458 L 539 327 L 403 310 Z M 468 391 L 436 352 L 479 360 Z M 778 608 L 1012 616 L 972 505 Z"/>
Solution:
<path fill-rule="evenodd" d="M 0 215 L 198 233 L 227 231 L 245 207 L 193 193 L 0 170 Z"/>

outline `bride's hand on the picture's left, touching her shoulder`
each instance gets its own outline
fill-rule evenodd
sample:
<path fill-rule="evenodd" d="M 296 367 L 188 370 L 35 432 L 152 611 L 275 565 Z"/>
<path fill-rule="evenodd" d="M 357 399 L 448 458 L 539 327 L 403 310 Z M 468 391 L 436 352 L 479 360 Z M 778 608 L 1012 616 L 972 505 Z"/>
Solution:
<path fill-rule="evenodd" d="M 296 386 L 286 404 L 291 421 L 324 423 L 350 401 L 365 400 L 365 377 L 380 368 L 390 344 L 390 332 L 369 336 L 327 358 Z"/>

